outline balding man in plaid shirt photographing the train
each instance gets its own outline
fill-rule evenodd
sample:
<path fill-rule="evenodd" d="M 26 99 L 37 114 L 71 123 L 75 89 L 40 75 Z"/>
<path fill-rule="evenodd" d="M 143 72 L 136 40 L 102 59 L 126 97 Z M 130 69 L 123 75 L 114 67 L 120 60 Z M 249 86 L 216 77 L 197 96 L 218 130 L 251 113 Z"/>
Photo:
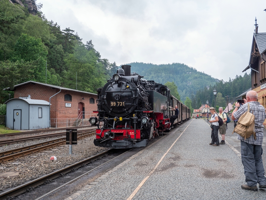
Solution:
<path fill-rule="evenodd" d="M 239 103 L 236 102 L 236 108 L 232 112 L 232 119 L 236 120 L 244 114 L 249 103 L 250 110 L 253 111 L 255 116 L 255 132 L 256 139 L 253 135 L 249 138 L 237 136 L 238 140 L 241 140 L 241 160 L 244 165 L 244 174 L 246 176 L 245 185 L 241 185 L 244 190 L 258 191 L 257 183 L 259 188 L 266 188 L 266 177 L 264 176 L 265 171 L 262 163 L 262 141 L 263 141 L 263 122 L 266 118 L 265 108 L 257 102 L 257 92 L 251 90 L 246 93 L 246 99 L 244 99 L 244 105 L 240 107 Z"/>

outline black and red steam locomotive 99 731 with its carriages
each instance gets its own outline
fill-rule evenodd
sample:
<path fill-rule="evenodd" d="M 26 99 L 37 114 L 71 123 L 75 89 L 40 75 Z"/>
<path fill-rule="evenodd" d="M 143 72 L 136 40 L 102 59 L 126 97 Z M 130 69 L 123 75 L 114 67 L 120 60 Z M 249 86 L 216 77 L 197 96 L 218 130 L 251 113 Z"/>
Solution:
<path fill-rule="evenodd" d="M 190 119 L 190 109 L 170 94 L 163 84 L 142 79 L 122 65 L 103 88 L 97 89 L 97 126 L 94 145 L 107 148 L 144 147 L 148 140 L 170 131 L 170 106 L 178 105 L 179 116 L 173 126 Z"/>

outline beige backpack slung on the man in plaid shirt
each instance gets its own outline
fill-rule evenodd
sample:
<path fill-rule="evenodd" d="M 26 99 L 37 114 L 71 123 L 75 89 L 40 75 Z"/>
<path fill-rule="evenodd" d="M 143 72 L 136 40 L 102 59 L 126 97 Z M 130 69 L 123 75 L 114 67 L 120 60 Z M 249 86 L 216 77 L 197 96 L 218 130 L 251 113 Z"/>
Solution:
<path fill-rule="evenodd" d="M 256 133 L 255 133 L 255 116 L 249 112 L 249 103 L 248 103 L 248 110 L 239 117 L 238 123 L 233 130 L 233 133 L 236 132 L 238 135 L 245 138 L 249 138 L 251 134 L 253 134 L 254 139 L 256 140 Z M 232 134 L 233 134 L 232 133 Z"/>

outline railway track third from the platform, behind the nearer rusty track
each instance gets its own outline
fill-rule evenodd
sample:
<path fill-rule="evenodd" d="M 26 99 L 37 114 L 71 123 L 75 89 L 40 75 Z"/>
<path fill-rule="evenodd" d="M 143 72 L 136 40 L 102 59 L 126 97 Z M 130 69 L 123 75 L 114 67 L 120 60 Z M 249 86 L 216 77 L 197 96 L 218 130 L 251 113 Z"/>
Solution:
<path fill-rule="evenodd" d="M 78 133 L 86 132 L 88 130 L 93 130 L 95 129 L 83 129 L 83 130 L 78 130 Z M 22 143 L 22 142 L 28 142 L 28 141 L 33 141 L 33 140 L 41 140 L 41 139 L 46 139 L 46 138 L 52 138 L 52 137 L 60 137 L 66 135 L 66 132 L 58 132 L 58 133 L 51 133 L 51 134 L 45 134 L 45 135 L 34 135 L 34 136 L 29 136 L 29 137 L 21 137 L 21 138 L 13 138 L 13 139 L 8 139 L 8 140 L 1 140 L 0 141 L 0 146 L 3 145 L 10 145 L 10 144 L 16 144 L 16 143 Z"/>

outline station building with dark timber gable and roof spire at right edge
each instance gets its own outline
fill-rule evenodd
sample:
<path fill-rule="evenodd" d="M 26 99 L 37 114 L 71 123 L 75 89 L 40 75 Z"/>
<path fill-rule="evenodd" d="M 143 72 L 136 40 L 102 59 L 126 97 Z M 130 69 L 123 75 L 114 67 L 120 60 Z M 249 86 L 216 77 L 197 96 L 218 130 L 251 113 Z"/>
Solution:
<path fill-rule="evenodd" d="M 257 101 L 266 108 L 266 33 L 258 33 L 257 19 L 255 22 L 249 65 L 242 72 L 251 69 L 251 89 L 257 92 Z M 246 93 L 241 96 L 245 98 Z M 263 125 L 266 127 L 266 120 Z"/>

